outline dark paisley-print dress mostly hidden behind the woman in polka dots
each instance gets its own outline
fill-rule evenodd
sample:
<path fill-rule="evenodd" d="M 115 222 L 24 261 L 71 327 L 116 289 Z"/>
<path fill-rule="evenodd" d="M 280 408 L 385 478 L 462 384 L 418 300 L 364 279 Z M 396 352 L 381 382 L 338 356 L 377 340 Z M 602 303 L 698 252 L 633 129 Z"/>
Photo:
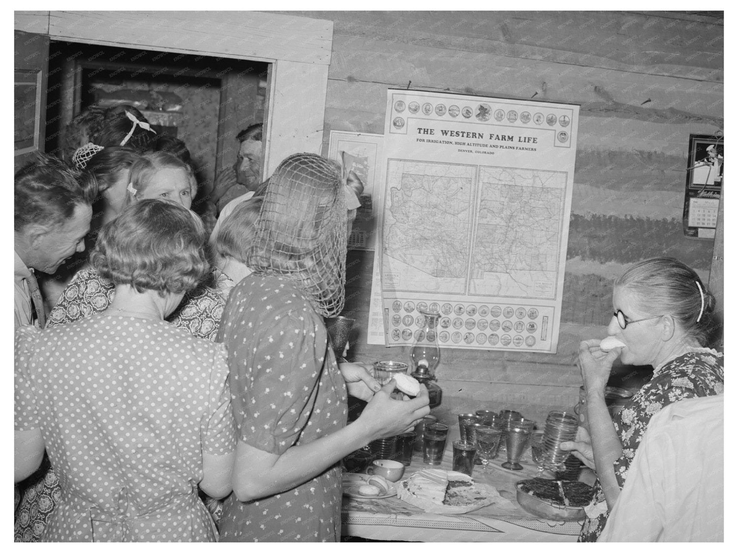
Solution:
<path fill-rule="evenodd" d="M 46 328 L 103 312 L 110 306 L 114 295 L 114 284 L 104 280 L 94 269 L 83 269 L 64 289 L 49 315 Z M 221 295 L 206 286 L 199 286 L 184 295 L 182 303 L 167 320 L 193 336 L 215 341 L 224 305 Z M 24 492 L 15 513 L 15 541 L 38 541 L 61 494 L 49 459 L 44 458 L 39 470 L 22 484 Z M 204 499 L 209 507 L 216 508 L 214 500 L 207 496 Z M 213 514 L 217 515 L 217 512 Z"/>

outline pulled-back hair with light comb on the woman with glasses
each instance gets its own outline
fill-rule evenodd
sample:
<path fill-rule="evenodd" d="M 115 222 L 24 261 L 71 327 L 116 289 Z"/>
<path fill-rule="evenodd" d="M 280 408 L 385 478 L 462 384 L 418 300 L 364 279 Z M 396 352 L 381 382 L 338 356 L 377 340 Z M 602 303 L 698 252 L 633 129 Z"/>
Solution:
<path fill-rule="evenodd" d="M 615 287 L 632 289 L 644 311 L 672 315 L 689 336 L 706 346 L 714 332 L 715 297 L 691 267 L 670 257 L 638 261 L 628 267 Z"/>

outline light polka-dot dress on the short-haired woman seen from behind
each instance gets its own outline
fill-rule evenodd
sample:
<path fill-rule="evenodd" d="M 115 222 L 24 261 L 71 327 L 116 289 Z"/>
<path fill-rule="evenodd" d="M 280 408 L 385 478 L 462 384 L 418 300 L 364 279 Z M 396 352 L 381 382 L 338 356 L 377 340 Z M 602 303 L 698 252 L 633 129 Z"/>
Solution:
<path fill-rule="evenodd" d="M 235 449 L 223 346 L 159 320 L 93 315 L 15 344 L 15 430 L 40 429 L 61 484 L 43 541 L 215 541 L 202 454 Z"/>

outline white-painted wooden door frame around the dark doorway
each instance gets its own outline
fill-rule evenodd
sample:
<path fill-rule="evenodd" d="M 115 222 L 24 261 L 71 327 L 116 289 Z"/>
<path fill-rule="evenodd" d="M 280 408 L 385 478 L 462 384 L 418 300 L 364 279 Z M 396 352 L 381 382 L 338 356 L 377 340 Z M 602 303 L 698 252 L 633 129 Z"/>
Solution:
<path fill-rule="evenodd" d="M 321 153 L 333 21 L 246 11 L 16 11 L 14 28 L 57 41 L 269 63 L 264 176 L 289 154 Z"/>

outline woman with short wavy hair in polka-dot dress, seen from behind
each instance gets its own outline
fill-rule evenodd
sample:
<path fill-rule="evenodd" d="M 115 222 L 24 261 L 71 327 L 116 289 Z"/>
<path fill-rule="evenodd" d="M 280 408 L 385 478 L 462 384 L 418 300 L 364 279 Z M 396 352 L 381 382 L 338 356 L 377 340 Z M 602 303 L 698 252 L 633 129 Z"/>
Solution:
<path fill-rule="evenodd" d="M 165 322 L 208 269 L 202 224 L 144 200 L 103 227 L 105 312 L 15 340 L 15 481 L 44 448 L 61 498 L 44 541 L 215 541 L 197 487 L 230 492 L 235 439 L 223 346 Z"/>

